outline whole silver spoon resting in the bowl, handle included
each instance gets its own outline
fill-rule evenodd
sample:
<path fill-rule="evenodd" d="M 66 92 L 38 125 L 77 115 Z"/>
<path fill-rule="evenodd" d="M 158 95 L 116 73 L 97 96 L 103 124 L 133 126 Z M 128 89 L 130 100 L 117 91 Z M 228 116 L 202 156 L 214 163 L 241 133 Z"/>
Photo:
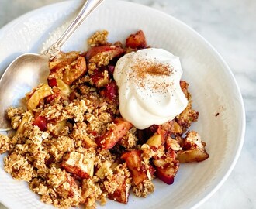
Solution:
<path fill-rule="evenodd" d="M 56 56 L 61 46 L 71 37 L 88 15 L 104 0 L 86 0 L 76 18 L 64 34 L 43 53 L 25 53 L 6 68 L 0 80 L 0 131 L 12 129 L 5 111 L 11 106 L 21 106 L 26 92 L 47 81 L 49 59 Z"/>

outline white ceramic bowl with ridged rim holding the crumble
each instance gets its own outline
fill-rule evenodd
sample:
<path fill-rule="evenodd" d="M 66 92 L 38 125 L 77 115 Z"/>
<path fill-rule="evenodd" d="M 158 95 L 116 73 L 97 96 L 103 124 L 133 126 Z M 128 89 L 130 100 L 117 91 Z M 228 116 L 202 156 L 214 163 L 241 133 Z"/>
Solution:
<path fill-rule="evenodd" d="M 61 2 L 22 15 L 0 30 L 0 74 L 19 54 L 39 52 L 61 34 L 78 2 Z M 57 28 L 57 26 L 59 26 Z M 57 28 L 57 29 L 56 29 Z M 213 194 L 227 179 L 244 140 L 244 105 L 227 63 L 202 36 L 177 19 L 130 2 L 106 1 L 72 36 L 63 50 L 85 50 L 86 39 L 99 29 L 109 41 L 122 40 L 144 30 L 150 46 L 161 47 L 181 58 L 183 79 L 189 82 L 199 121 L 192 126 L 207 143 L 209 159 L 182 164 L 171 186 L 155 180 L 147 198 L 130 197 L 124 206 L 109 200 L 99 208 L 192 208 Z M 50 39 L 47 39 L 49 35 Z M 2 91 L 2 90 L 1 90 Z M 4 99 L 4 98 L 0 98 Z M 0 158 L 0 201 L 9 208 L 49 208 L 27 183 L 12 180 Z"/>

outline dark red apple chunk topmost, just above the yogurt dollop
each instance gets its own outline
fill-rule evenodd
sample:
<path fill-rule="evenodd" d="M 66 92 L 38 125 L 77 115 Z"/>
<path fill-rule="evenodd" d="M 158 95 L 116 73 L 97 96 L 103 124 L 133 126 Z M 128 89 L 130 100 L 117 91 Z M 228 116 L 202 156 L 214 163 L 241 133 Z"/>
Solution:
<path fill-rule="evenodd" d="M 133 49 L 140 49 L 147 47 L 147 41 L 142 30 L 137 31 L 135 34 L 131 34 L 126 39 L 126 47 Z"/>

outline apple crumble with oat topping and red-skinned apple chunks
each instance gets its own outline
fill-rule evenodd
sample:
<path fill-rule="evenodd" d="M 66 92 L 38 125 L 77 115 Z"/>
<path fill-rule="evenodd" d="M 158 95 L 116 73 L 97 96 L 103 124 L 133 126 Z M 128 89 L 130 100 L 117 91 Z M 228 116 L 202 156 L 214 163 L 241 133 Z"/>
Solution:
<path fill-rule="evenodd" d="M 54 207 L 95 208 L 107 198 L 127 204 L 130 192 L 152 194 L 155 178 L 173 183 L 180 163 L 209 157 L 206 143 L 189 130 L 199 112 L 185 81 L 188 105 L 175 119 L 140 130 L 122 118 L 116 61 L 149 46 L 141 30 L 125 44 L 107 36 L 93 34 L 84 53 L 59 53 L 47 84 L 26 94 L 26 109 L 7 110 L 16 132 L 0 135 L 0 153 L 8 152 L 4 169 Z"/>

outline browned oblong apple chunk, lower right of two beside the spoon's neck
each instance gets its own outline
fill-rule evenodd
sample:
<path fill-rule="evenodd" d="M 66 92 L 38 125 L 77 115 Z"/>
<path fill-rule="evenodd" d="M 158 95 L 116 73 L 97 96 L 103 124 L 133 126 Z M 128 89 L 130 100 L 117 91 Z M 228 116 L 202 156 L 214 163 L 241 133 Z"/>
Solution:
<path fill-rule="evenodd" d="M 74 60 L 70 65 L 67 65 L 63 71 L 63 78 L 62 80 L 70 85 L 78 77 L 81 77 L 82 74 L 86 72 L 86 62 L 85 57 L 79 56 L 77 60 Z"/>

